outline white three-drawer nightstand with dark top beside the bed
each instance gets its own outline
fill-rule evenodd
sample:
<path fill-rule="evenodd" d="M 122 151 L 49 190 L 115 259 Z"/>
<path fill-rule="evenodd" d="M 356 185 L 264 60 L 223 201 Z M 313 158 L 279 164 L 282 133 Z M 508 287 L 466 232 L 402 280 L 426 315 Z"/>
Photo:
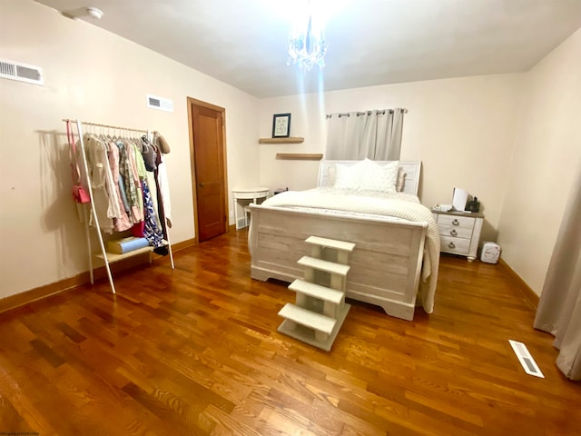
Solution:
<path fill-rule="evenodd" d="M 472 262 L 477 257 L 484 215 L 482 213 L 434 211 L 439 228 L 439 251 L 460 254 Z"/>

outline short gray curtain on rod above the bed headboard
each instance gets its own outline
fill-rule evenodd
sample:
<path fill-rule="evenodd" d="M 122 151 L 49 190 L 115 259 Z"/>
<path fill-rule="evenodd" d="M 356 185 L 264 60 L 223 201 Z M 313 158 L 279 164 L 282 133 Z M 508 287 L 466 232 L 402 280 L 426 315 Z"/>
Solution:
<path fill-rule="evenodd" d="M 327 115 L 325 159 L 398 161 L 405 109 Z"/>

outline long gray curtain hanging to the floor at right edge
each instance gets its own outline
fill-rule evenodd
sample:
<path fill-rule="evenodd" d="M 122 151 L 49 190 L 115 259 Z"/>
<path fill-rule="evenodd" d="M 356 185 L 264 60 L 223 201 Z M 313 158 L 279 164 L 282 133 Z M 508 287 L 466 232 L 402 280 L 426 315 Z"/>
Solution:
<path fill-rule="evenodd" d="M 535 328 L 555 336 L 556 366 L 581 380 L 581 164 L 549 263 Z"/>

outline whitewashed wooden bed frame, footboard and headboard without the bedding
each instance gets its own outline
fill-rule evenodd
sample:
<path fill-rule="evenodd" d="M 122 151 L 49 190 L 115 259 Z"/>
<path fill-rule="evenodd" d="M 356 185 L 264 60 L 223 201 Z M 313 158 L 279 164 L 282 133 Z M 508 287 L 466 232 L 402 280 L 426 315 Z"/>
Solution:
<path fill-rule="evenodd" d="M 319 186 L 333 185 L 337 163 L 357 162 L 321 161 Z M 403 191 L 417 195 L 421 163 L 400 162 L 399 167 L 406 173 Z M 350 255 L 347 296 L 376 304 L 389 315 L 411 321 L 427 227 L 428 223 L 397 218 L 307 213 L 251 204 L 251 277 L 283 282 L 302 277 L 303 270 L 297 261 L 310 253 L 304 242 L 309 236 L 355 243 Z"/>

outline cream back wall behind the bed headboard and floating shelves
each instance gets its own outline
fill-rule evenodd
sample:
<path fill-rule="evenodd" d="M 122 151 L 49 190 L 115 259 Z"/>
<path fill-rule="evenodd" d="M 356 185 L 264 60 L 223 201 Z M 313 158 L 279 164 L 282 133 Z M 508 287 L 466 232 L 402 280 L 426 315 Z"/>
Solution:
<path fill-rule="evenodd" d="M 323 70 L 324 71 L 324 70 Z M 276 160 L 276 153 L 324 153 L 325 114 L 406 107 L 401 160 L 422 161 L 420 199 L 451 203 L 457 186 L 478 196 L 486 215 L 483 240 L 495 240 L 506 192 L 524 74 L 387 84 L 260 102 L 261 137 L 272 114 L 291 113 L 291 135 L 303 144 L 261 144 L 261 184 L 306 189 L 318 162 Z"/>

